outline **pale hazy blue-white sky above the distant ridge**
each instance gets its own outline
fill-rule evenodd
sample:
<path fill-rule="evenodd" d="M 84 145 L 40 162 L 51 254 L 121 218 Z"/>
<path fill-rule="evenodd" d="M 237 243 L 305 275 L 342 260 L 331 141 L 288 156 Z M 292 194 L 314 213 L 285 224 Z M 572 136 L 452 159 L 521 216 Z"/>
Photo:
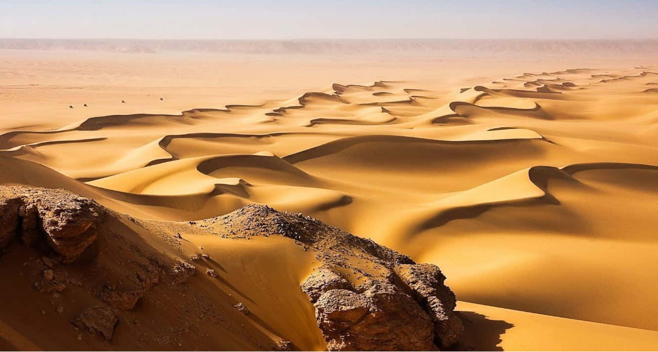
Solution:
<path fill-rule="evenodd" d="M 658 0 L 0 0 L 0 38 L 658 38 Z"/>

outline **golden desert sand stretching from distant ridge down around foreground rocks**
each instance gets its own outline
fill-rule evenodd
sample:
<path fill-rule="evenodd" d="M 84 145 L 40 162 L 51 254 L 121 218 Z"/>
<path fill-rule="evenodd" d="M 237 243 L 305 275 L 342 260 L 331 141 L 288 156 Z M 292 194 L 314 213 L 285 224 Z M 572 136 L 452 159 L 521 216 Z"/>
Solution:
<path fill-rule="evenodd" d="M 658 63 L 509 50 L 2 50 L 0 183 L 94 199 L 168 258 L 206 253 L 220 280 L 197 266 L 186 292 L 222 319 L 185 325 L 159 288 L 111 342 L 77 339 L 64 322 L 91 298 L 65 291 L 57 313 L 23 266 L 34 253 L 9 247 L 0 347 L 326 348 L 299 289 L 315 249 L 172 230 L 258 204 L 438 265 L 459 348 L 657 349 Z"/>

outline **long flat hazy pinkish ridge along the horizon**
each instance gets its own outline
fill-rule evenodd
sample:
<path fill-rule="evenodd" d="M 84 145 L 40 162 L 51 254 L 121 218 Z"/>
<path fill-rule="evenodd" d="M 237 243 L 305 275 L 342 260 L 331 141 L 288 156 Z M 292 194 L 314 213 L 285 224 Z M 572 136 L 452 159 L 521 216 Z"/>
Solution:
<path fill-rule="evenodd" d="M 658 53 L 658 39 L 0 39 L 0 49 L 119 53 Z"/>

